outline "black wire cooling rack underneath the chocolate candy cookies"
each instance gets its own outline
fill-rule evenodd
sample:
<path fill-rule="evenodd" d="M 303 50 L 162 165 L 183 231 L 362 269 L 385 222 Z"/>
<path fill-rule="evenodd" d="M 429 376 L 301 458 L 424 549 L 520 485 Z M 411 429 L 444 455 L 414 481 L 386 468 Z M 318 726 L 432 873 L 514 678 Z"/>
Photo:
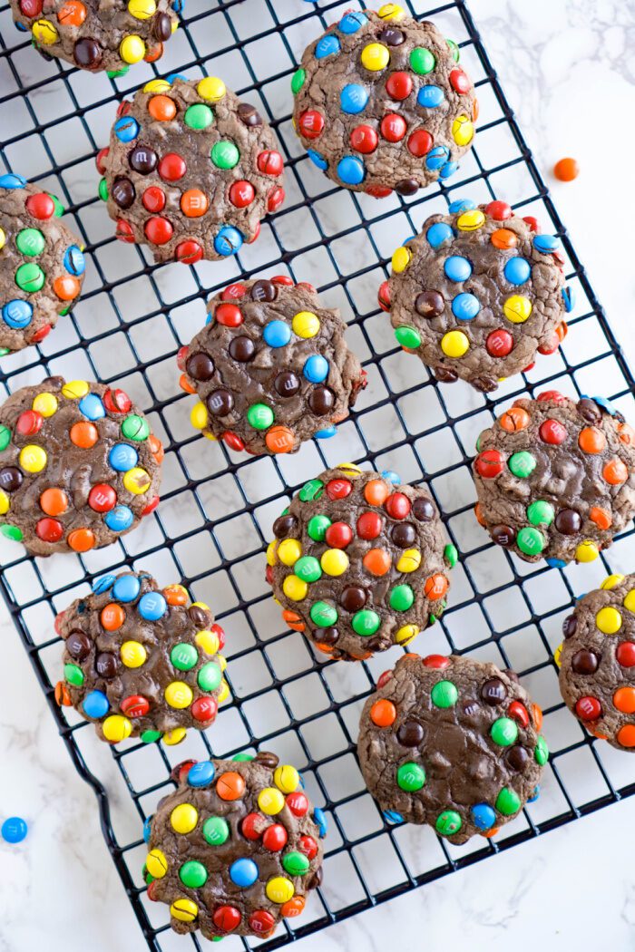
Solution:
<path fill-rule="evenodd" d="M 162 505 L 121 542 L 50 560 L 29 559 L 7 543 L 0 553 L 5 602 L 73 763 L 97 795 L 113 863 L 153 950 L 202 947 L 196 936 L 171 932 L 167 906 L 148 902 L 141 877 L 142 820 L 169 791 L 171 766 L 188 757 L 272 749 L 302 769 L 309 794 L 330 820 L 324 886 L 297 927 L 286 922 L 265 943 L 230 939 L 230 948 L 276 948 L 635 792 L 632 759 L 594 742 L 564 709 L 552 660 L 572 601 L 607 571 L 632 570 L 633 530 L 592 565 L 563 571 L 526 565 L 486 541 L 473 516 L 469 476 L 474 438 L 501 403 L 546 386 L 571 395 L 604 391 L 632 418 L 633 378 L 465 3 L 402 3 L 458 41 L 476 80 L 481 120 L 475 148 L 446 187 L 428 188 L 409 201 L 376 201 L 334 188 L 310 165 L 290 125 L 288 85 L 299 54 L 327 23 L 359 4 L 323 0 L 318 9 L 301 0 L 188 0 L 182 28 L 156 67 L 140 65 L 109 80 L 41 60 L 13 30 L 7 2 L 0 0 L 2 162 L 65 201 L 91 261 L 73 313 L 37 349 L 2 360 L 3 387 L 8 392 L 51 373 L 116 381 L 147 409 L 167 446 Z M 143 249 L 114 240 L 96 197 L 93 159 L 108 141 L 117 101 L 159 70 L 221 75 L 278 134 L 287 203 L 235 260 L 195 268 L 150 265 Z M 540 358 L 493 398 L 460 382 L 440 386 L 431 380 L 419 361 L 394 346 L 376 304 L 392 250 L 457 197 L 504 198 L 536 215 L 544 230 L 563 237 L 567 277 L 577 290 L 570 333 L 558 354 Z M 293 459 L 245 458 L 191 430 L 192 398 L 178 388 L 175 354 L 202 325 L 209 291 L 240 273 L 280 272 L 311 281 L 327 304 L 342 308 L 369 386 L 332 440 L 303 446 Z M 317 660 L 301 635 L 283 629 L 268 594 L 263 550 L 273 518 L 306 479 L 345 459 L 397 470 L 409 482 L 425 478 L 461 553 L 450 607 L 413 650 L 469 651 L 514 667 L 545 709 L 553 753 L 541 798 L 494 841 L 453 847 L 427 828 L 387 825 L 362 783 L 354 741 L 360 708 L 399 649 L 364 664 Z M 189 732 L 176 748 L 126 742 L 111 750 L 54 702 L 51 684 L 61 667 L 55 614 L 85 593 L 95 576 L 126 566 L 144 567 L 164 585 L 183 580 L 228 632 L 232 700 L 208 734 Z"/>

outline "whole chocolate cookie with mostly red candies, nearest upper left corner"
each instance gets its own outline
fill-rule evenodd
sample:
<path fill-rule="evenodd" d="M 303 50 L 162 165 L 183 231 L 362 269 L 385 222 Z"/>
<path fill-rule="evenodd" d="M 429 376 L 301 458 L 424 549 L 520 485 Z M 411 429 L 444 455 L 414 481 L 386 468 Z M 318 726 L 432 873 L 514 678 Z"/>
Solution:
<path fill-rule="evenodd" d="M 222 80 L 153 79 L 117 114 L 99 193 L 117 238 L 149 245 L 155 261 L 236 254 L 284 201 L 273 132 Z"/>

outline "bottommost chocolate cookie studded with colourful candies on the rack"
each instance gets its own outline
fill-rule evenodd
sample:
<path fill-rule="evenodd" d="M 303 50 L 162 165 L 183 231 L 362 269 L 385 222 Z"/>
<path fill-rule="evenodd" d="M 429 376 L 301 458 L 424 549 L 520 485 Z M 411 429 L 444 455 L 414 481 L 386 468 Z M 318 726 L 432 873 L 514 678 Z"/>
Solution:
<path fill-rule="evenodd" d="M 295 767 L 263 752 L 188 761 L 173 775 L 177 790 L 144 827 L 144 875 L 174 931 L 262 939 L 299 916 L 322 881 L 327 824 Z"/>

